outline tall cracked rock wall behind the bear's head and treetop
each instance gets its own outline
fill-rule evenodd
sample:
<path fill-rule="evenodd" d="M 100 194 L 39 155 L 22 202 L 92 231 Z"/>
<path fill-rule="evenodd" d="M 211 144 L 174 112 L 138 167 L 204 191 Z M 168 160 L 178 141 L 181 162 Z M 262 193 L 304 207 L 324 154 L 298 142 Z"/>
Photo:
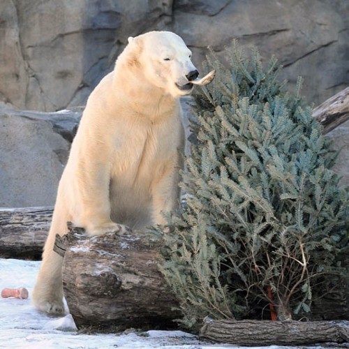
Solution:
<path fill-rule="evenodd" d="M 0 2 L 0 102 L 55 111 L 84 105 L 127 43 L 153 29 L 177 32 L 200 66 L 207 45 L 255 45 L 305 78 L 320 104 L 349 84 L 347 0 L 6 0 Z"/>

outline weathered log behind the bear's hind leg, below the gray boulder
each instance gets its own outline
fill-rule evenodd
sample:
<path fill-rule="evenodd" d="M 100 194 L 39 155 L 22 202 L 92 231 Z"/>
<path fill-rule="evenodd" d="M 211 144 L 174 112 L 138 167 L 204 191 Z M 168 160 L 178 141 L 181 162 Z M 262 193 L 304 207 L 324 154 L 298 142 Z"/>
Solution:
<path fill-rule="evenodd" d="M 52 207 L 0 209 L 0 257 L 40 260 Z"/>

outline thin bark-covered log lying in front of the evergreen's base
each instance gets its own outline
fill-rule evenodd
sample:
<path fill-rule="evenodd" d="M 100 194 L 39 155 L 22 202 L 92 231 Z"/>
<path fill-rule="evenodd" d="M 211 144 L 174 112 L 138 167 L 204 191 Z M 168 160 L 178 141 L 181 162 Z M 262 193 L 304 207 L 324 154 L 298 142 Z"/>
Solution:
<path fill-rule="evenodd" d="M 349 322 L 229 321 L 206 318 L 200 337 L 236 346 L 345 343 L 349 342 Z"/>

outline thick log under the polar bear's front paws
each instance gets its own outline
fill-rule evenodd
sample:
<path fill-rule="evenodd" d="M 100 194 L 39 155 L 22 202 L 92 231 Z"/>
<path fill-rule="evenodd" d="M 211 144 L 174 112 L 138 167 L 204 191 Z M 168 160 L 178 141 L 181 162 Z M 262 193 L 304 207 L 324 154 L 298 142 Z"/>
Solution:
<path fill-rule="evenodd" d="M 64 253 L 63 285 L 77 327 L 168 328 L 179 318 L 177 300 L 158 270 L 160 244 L 144 233 L 98 237 L 69 228 L 57 235 L 55 251 Z"/>

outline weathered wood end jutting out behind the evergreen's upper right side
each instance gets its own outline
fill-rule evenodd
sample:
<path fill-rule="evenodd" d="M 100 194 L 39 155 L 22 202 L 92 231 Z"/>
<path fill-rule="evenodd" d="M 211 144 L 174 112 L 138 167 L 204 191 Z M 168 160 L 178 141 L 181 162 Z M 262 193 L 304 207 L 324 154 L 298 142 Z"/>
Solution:
<path fill-rule="evenodd" d="M 349 87 L 315 107 L 313 117 L 324 126 L 324 134 L 349 120 Z"/>

